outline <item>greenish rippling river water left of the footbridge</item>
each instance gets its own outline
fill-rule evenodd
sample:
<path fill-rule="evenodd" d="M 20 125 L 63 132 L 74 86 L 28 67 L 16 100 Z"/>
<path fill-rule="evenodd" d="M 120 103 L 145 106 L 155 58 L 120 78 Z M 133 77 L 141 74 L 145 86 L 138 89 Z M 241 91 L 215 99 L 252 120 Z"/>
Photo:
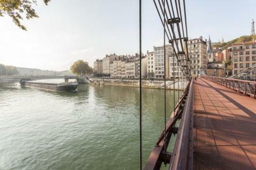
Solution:
<path fill-rule="evenodd" d="M 173 91 L 166 95 L 169 117 Z M 164 127 L 164 90 L 142 96 L 145 164 Z M 139 169 L 139 89 L 0 85 L 0 169 Z"/>

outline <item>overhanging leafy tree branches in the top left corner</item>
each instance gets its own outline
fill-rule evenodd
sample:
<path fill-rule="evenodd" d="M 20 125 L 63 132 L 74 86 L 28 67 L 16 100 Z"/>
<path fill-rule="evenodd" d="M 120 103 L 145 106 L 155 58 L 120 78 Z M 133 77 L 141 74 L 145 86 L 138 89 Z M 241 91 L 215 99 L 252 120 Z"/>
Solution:
<path fill-rule="evenodd" d="M 51 0 L 43 1 L 47 5 Z M 32 7 L 33 4 L 36 5 L 37 0 L 0 0 L 0 16 L 4 16 L 4 14 L 9 15 L 19 28 L 27 30 L 20 23 L 20 20 L 23 20 L 21 15 L 24 13 L 28 20 L 38 18 L 39 16 Z"/>

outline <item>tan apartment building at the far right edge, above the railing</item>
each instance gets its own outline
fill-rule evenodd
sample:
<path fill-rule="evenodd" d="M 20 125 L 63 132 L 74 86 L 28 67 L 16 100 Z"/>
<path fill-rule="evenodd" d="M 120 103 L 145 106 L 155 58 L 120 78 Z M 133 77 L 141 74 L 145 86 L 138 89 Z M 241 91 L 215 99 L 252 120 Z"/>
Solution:
<path fill-rule="evenodd" d="M 233 74 L 256 64 L 256 41 L 232 44 Z"/>

